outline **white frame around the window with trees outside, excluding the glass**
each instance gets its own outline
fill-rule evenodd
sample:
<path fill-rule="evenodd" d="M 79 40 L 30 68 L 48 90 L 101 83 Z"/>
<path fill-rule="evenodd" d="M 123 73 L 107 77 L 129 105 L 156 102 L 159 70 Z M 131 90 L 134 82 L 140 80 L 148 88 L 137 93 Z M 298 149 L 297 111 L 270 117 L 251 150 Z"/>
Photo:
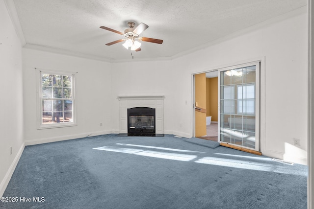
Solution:
<path fill-rule="evenodd" d="M 42 74 L 54 74 L 64 75 L 72 77 L 72 121 L 71 122 L 59 122 L 43 124 L 43 95 L 42 95 Z M 60 128 L 76 126 L 76 111 L 75 111 L 75 73 L 74 72 L 58 72 L 51 70 L 40 70 L 36 69 L 36 95 L 37 95 L 37 129 L 49 129 L 49 128 Z"/>

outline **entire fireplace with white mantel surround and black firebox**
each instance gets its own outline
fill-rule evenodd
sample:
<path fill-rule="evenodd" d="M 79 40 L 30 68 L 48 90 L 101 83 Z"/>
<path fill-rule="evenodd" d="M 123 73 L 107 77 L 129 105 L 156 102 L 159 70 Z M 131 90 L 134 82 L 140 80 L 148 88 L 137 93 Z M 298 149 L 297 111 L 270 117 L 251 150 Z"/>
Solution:
<path fill-rule="evenodd" d="M 164 96 L 118 96 L 119 100 L 119 135 L 118 136 L 156 136 L 164 135 L 164 116 L 163 116 L 163 100 Z M 137 109 L 139 108 L 139 109 Z M 142 108 L 142 116 L 138 117 Z M 139 119 L 144 125 L 131 126 L 130 116 L 128 112 L 135 110 L 137 115 L 131 117 L 131 123 L 135 123 Z M 155 115 L 149 113 L 155 111 Z M 137 117 L 136 117 L 137 116 Z M 149 121 L 150 120 L 150 121 Z M 154 129 L 151 125 L 154 120 Z M 132 124 L 131 124 L 132 125 Z M 141 126 L 141 127 L 140 127 Z M 144 126 L 144 127 L 142 127 Z M 150 126 L 150 127 L 147 127 Z M 145 130 L 144 130 L 145 129 Z M 155 133 L 153 133 L 155 132 Z"/>

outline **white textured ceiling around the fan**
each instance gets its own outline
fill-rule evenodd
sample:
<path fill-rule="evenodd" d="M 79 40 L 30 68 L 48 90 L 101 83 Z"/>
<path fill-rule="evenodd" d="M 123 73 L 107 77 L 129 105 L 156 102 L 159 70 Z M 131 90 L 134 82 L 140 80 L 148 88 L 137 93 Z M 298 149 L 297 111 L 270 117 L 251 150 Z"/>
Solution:
<path fill-rule="evenodd" d="M 122 42 L 105 46 L 124 37 L 100 26 L 123 32 L 130 21 L 146 23 L 140 36 L 163 44 L 142 42 L 134 59 L 171 58 L 296 11 L 307 0 L 14 0 L 14 5 L 25 47 L 115 62 L 131 59 L 131 51 Z"/>

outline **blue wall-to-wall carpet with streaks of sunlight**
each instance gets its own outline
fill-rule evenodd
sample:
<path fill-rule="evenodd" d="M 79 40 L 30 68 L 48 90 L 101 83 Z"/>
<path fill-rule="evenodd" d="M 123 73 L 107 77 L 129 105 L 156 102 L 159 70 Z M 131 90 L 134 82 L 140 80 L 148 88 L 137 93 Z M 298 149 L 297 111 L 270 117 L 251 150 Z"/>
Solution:
<path fill-rule="evenodd" d="M 307 173 L 172 135 L 103 135 L 26 146 L 3 194 L 18 201 L 0 209 L 307 209 Z"/>

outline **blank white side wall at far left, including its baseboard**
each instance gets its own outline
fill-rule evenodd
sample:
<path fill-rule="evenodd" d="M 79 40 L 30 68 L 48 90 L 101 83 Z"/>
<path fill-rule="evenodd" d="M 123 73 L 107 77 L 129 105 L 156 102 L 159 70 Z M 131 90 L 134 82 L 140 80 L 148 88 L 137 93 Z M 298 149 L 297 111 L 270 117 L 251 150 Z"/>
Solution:
<path fill-rule="evenodd" d="M 22 46 L 3 0 L 0 0 L 0 28 L 0 196 L 2 196 L 24 149 Z"/>

